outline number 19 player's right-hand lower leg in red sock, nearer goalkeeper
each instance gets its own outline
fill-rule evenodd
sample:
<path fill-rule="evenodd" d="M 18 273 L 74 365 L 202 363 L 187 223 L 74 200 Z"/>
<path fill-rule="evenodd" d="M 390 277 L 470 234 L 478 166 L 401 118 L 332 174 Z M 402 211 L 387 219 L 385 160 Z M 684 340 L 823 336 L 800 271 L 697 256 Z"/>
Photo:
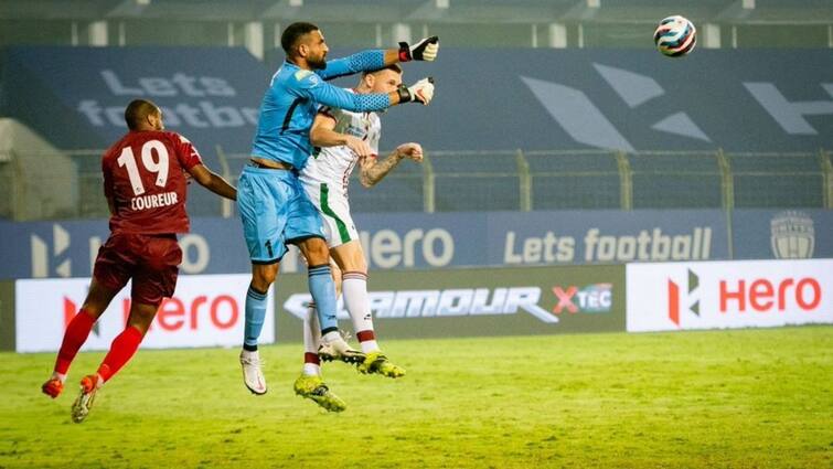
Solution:
<path fill-rule="evenodd" d="M 159 305 L 136 301 L 130 305 L 127 327 L 113 340 L 110 350 L 98 366 L 98 371 L 81 380 L 81 392 L 72 406 L 73 422 L 76 424 L 84 422 L 93 407 L 98 390 L 136 354 L 158 309 Z"/>

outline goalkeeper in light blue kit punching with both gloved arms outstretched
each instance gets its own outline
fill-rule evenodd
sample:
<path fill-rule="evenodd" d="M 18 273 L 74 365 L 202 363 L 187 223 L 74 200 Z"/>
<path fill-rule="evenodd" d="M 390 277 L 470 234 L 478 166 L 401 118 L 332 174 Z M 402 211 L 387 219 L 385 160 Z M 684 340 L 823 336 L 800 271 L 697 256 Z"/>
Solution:
<path fill-rule="evenodd" d="M 397 62 L 434 60 L 437 38 L 399 49 L 365 51 L 327 62 L 329 47 L 320 29 L 311 23 L 292 23 L 281 34 L 287 60 L 273 76 L 260 105 L 250 162 L 238 181 L 237 207 L 252 260 L 252 283 L 246 295 L 244 343 L 241 365 L 246 387 L 265 394 L 257 339 L 266 312 L 266 294 L 275 281 L 287 244 L 296 244 L 309 265 L 310 294 L 318 305 L 321 342 L 340 359 L 362 362 L 364 354 L 350 349 L 335 321 L 335 290 L 330 273 L 329 251 L 321 217 L 301 188 L 297 173 L 312 152 L 309 130 L 320 105 L 352 111 L 382 110 L 402 103 L 428 104 L 434 85 L 427 79 L 387 94 L 356 95 L 325 83 L 325 79 L 378 70 Z M 298 384 L 302 384 L 299 387 Z M 296 393 L 314 399 L 330 411 L 343 409 L 319 379 L 296 383 Z"/>

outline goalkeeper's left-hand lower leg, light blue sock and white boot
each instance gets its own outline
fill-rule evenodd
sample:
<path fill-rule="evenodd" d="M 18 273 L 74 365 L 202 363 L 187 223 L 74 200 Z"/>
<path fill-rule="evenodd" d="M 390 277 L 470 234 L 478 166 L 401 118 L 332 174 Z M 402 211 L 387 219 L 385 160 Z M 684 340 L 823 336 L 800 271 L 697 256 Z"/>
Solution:
<path fill-rule="evenodd" d="M 275 283 L 280 265 L 253 264 L 252 284 L 246 292 L 246 321 L 244 326 L 243 350 L 241 350 L 241 366 L 243 383 L 255 395 L 264 395 L 268 387 L 263 373 L 264 362 L 257 350 L 257 339 L 266 318 L 266 297 L 269 286 Z"/>

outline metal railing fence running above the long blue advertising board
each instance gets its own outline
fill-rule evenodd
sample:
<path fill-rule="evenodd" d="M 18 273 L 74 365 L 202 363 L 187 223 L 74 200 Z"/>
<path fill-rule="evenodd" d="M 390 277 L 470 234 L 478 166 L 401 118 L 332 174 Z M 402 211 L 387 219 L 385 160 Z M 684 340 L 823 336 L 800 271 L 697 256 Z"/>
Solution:
<path fill-rule="evenodd" d="M 218 168 L 236 184 L 245 153 L 217 148 Z M 66 181 L 47 168 L 29 172 L 43 156 L 13 153 L 0 161 L 0 216 L 11 220 L 106 217 L 100 150 L 62 152 L 77 169 L 75 209 L 26 212 L 32 188 Z M 383 152 L 386 154 L 386 152 Z M 606 150 L 576 151 L 428 151 L 421 164 L 403 161 L 372 190 L 351 179 L 351 206 L 362 212 L 452 212 L 494 210 L 634 210 L 804 207 L 833 209 L 833 154 L 829 150 L 793 153 L 746 153 Z M 234 203 L 194 196 L 196 215 L 229 217 Z M 200 195 L 200 194 L 196 194 Z M 203 194 L 204 195 L 204 194 Z M 52 196 L 52 195 L 50 195 Z M 31 207 L 30 207 L 31 209 Z M 32 214 L 34 213 L 34 215 Z"/>

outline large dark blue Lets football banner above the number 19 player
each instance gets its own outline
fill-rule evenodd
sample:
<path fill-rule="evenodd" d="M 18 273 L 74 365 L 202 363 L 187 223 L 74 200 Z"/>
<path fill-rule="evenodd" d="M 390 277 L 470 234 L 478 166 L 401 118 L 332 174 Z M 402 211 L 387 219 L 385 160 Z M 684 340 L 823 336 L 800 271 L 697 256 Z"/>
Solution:
<path fill-rule="evenodd" d="M 60 149 L 104 149 L 135 98 L 217 168 L 214 147 L 247 152 L 270 72 L 243 47 L 15 46 L 3 56 L 0 113 Z"/>

